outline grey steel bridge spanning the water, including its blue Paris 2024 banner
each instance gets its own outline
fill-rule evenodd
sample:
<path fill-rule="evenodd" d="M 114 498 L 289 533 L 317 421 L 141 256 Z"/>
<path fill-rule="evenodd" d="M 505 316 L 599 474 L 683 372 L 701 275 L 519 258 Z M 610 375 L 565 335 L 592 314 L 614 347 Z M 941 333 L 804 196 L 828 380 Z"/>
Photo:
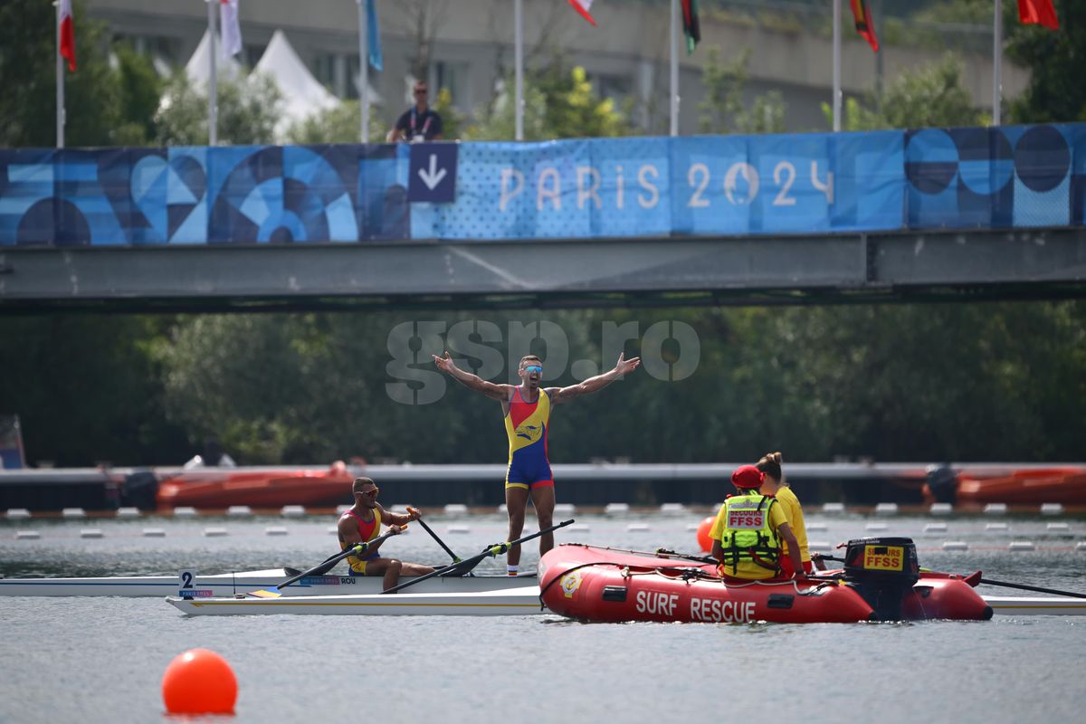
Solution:
<path fill-rule="evenodd" d="M 1086 124 L 0 150 L 0 312 L 1082 296 Z"/>

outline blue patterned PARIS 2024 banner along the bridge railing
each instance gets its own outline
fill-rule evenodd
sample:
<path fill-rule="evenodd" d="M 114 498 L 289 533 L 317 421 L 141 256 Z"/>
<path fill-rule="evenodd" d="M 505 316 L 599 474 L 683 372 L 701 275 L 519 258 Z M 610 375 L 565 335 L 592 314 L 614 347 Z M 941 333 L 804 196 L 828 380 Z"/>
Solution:
<path fill-rule="evenodd" d="M 1081 226 L 1086 125 L 407 145 L 0 150 L 0 244 L 831 234 Z"/>

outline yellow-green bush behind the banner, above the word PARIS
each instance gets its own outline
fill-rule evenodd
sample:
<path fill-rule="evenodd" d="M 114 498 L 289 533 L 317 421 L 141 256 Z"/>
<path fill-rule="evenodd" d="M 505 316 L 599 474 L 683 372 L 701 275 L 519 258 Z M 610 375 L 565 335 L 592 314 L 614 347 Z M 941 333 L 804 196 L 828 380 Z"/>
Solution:
<path fill-rule="evenodd" d="M 516 137 L 514 81 L 489 107 L 477 112 L 480 120 L 464 131 L 465 140 L 496 141 Z M 628 136 L 632 128 L 610 99 L 601 100 L 584 68 L 567 71 L 555 60 L 525 77 L 525 140 Z M 447 134 L 446 134 L 447 136 Z"/>

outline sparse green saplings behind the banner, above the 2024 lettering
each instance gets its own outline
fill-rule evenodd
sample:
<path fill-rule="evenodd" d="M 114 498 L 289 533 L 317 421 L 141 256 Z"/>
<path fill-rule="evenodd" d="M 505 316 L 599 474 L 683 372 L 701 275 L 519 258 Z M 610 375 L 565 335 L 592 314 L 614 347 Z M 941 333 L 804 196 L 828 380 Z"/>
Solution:
<path fill-rule="evenodd" d="M 747 109 L 743 102 L 750 63 L 745 48 L 731 63 L 721 65 L 720 50 L 708 48 L 698 102 L 698 130 L 703 134 L 780 134 L 784 131 L 784 99 L 778 91 L 755 97 Z"/>

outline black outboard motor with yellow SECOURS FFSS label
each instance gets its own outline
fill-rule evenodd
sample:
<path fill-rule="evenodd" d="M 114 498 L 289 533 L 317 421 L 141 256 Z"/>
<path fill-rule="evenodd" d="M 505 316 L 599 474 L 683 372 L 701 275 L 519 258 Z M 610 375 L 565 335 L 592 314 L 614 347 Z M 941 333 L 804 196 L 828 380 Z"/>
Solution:
<path fill-rule="evenodd" d="M 900 621 L 901 599 L 920 580 L 912 538 L 857 538 L 845 554 L 845 581 L 874 609 L 875 621 Z"/>

